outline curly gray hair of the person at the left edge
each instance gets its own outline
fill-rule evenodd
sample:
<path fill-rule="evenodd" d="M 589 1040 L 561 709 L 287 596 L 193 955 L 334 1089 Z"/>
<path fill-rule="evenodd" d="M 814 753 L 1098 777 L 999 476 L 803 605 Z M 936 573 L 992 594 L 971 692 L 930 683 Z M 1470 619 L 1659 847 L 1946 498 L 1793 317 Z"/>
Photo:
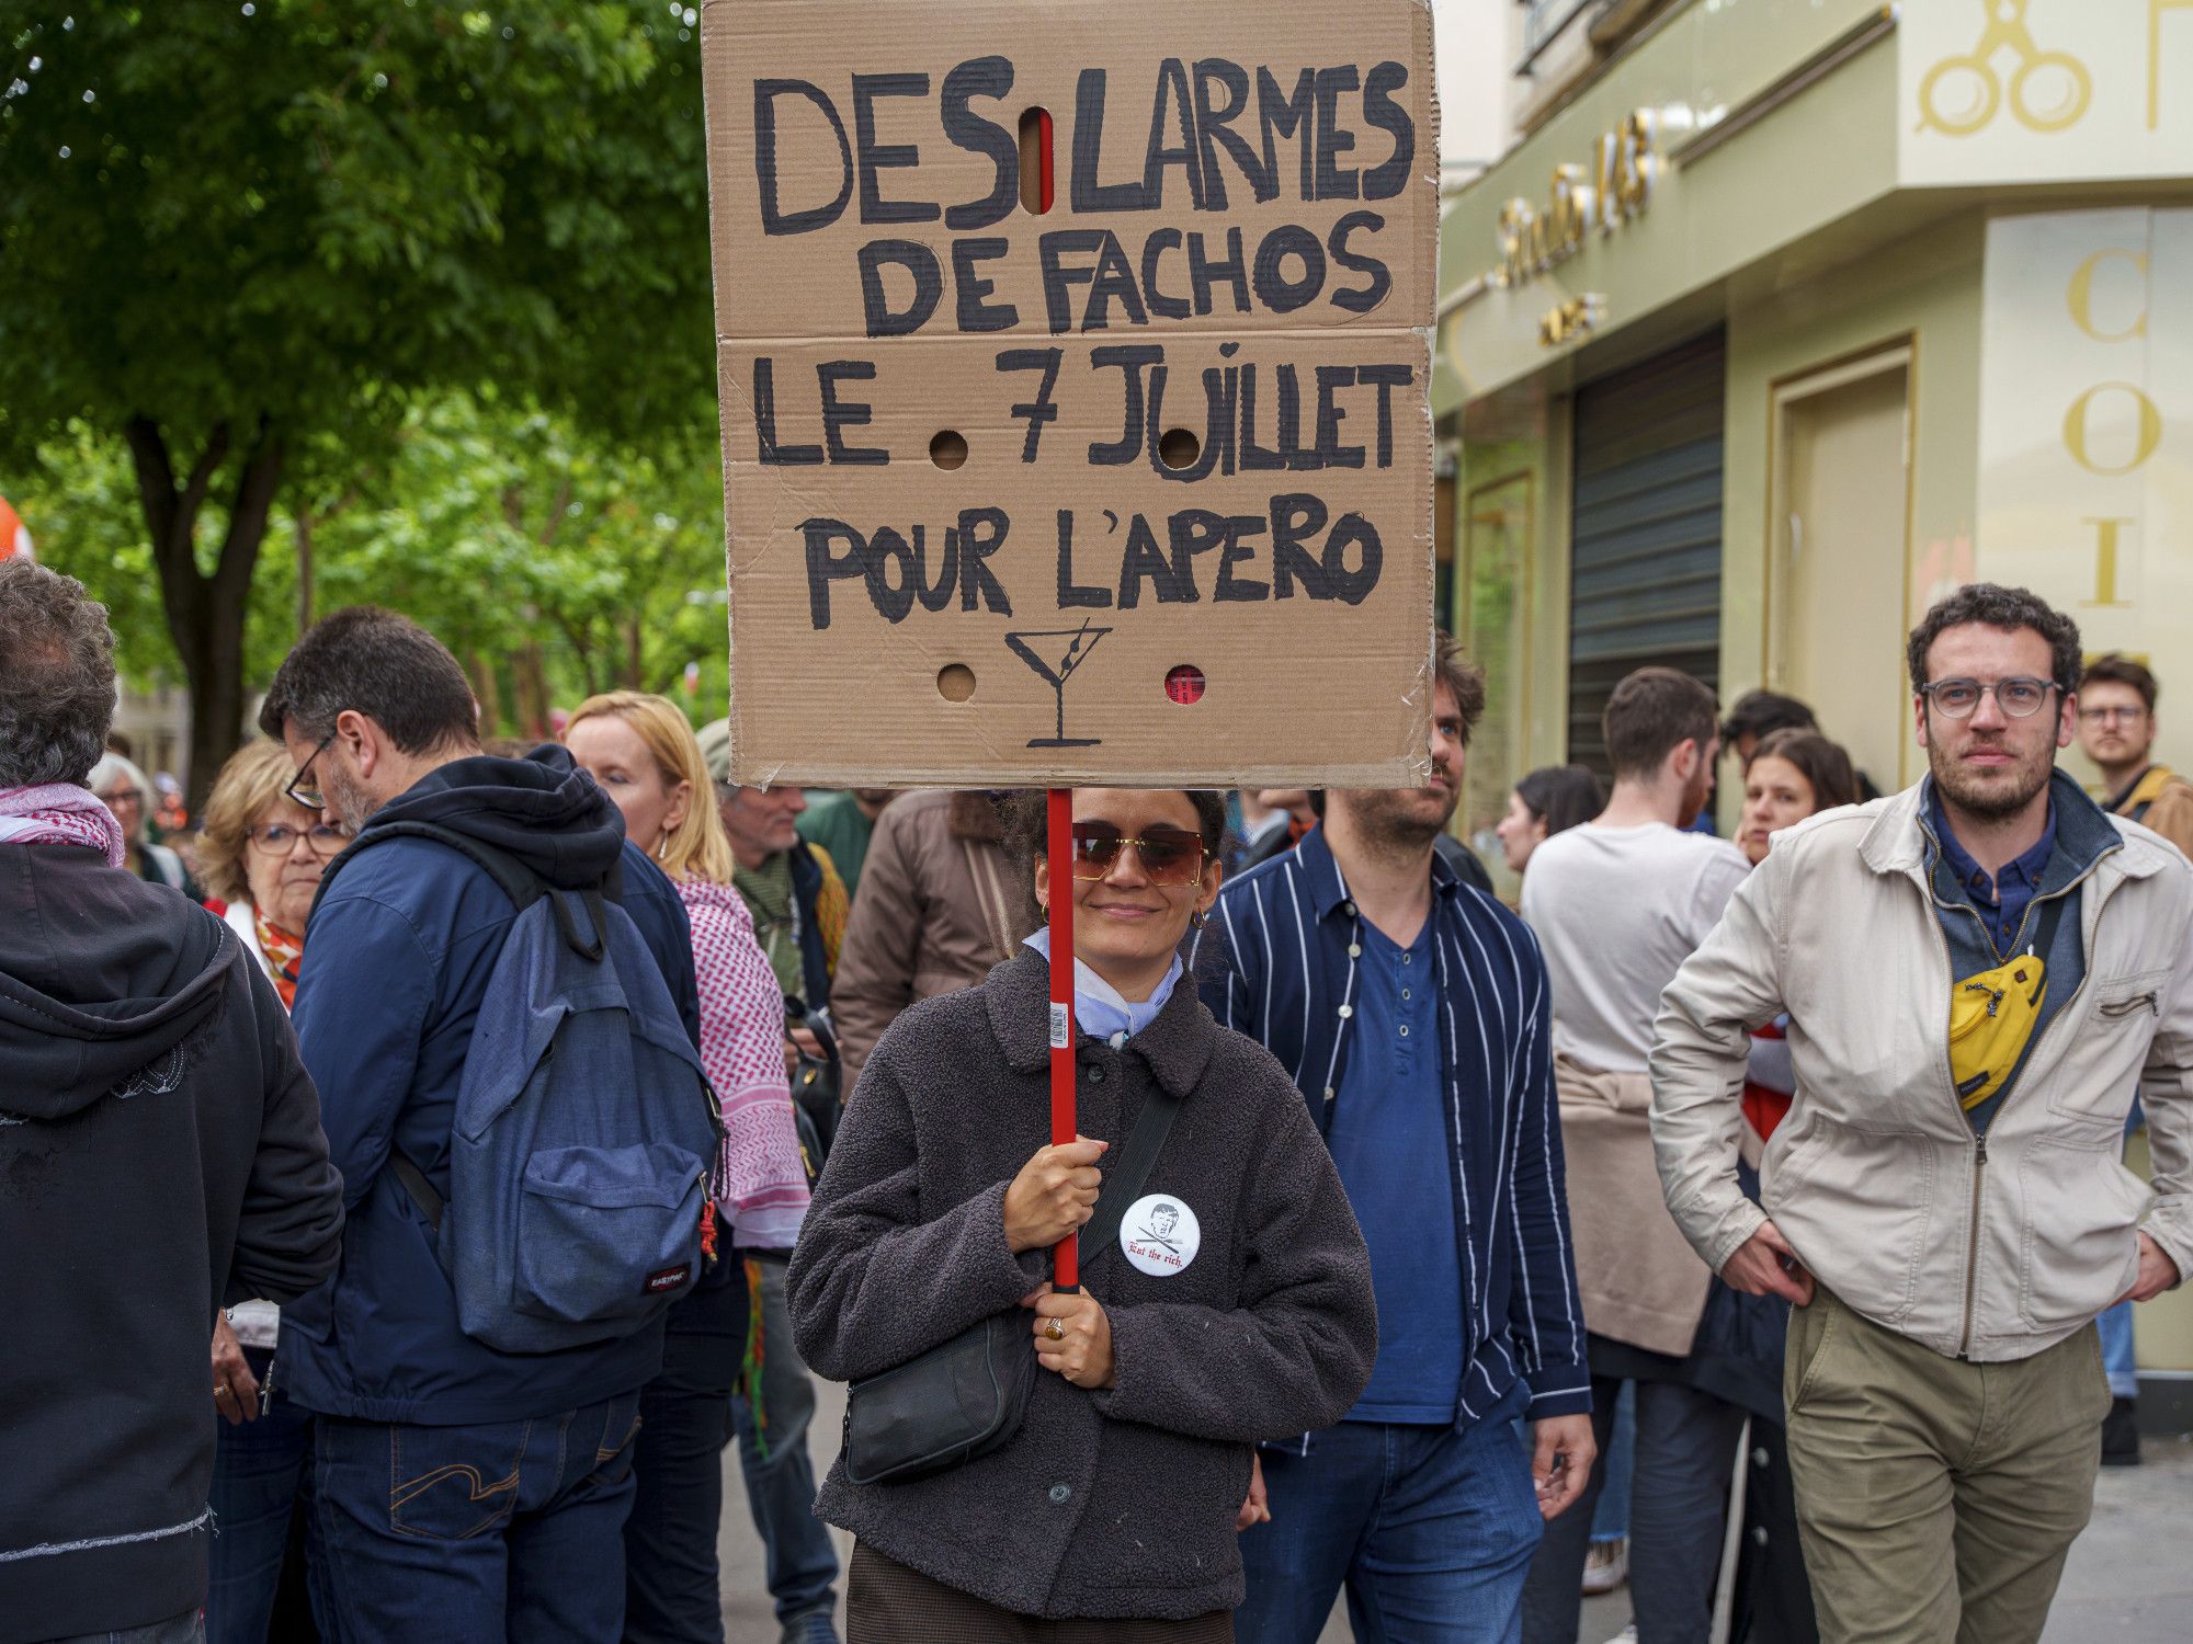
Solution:
<path fill-rule="evenodd" d="M 112 723 L 107 607 L 75 576 L 0 559 L 0 787 L 81 787 Z"/>

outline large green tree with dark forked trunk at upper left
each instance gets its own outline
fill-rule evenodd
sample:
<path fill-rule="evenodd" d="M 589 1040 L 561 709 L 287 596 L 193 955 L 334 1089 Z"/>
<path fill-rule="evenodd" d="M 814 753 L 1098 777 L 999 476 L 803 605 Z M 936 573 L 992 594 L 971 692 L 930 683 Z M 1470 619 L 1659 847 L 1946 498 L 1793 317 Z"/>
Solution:
<path fill-rule="evenodd" d="M 708 423 L 682 11 L 0 0 L 0 463 L 127 449 L 193 802 L 279 504 L 314 535 L 447 390 L 603 438 Z"/>

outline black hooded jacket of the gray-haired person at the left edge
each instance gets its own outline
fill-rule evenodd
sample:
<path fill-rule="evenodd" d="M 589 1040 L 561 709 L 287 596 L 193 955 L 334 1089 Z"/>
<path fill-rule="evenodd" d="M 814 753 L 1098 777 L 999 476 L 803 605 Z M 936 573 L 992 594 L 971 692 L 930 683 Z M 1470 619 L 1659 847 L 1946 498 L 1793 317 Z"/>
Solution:
<path fill-rule="evenodd" d="M 0 1642 L 204 1600 L 213 1313 L 311 1289 L 340 1230 L 235 934 L 81 846 L 0 846 Z"/>

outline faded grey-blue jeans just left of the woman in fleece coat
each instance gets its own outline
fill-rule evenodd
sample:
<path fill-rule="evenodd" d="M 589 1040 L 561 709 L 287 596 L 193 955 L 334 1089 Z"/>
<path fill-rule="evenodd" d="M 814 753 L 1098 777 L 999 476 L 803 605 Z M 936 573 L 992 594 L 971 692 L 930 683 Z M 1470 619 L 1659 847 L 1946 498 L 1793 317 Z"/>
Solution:
<path fill-rule="evenodd" d="M 792 1346 L 792 1315 L 785 1311 L 785 1265 L 781 1254 L 757 1254 L 748 1269 L 761 1293 L 761 1401 L 730 1401 L 739 1429 L 739 1471 L 746 1504 L 768 1563 L 776 1620 L 789 1622 L 838 1605 L 838 1548 L 829 1526 L 816 1517 L 816 1469 L 807 1455 L 807 1423 L 816 1414 L 816 1385 Z"/>

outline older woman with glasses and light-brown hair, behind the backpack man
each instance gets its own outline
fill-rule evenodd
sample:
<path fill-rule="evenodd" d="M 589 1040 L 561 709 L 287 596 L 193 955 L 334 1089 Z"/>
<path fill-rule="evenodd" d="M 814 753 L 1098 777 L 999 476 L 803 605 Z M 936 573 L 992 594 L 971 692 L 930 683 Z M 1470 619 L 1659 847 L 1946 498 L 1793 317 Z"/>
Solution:
<path fill-rule="evenodd" d="M 305 916 L 320 875 L 351 842 L 336 818 L 287 796 L 289 776 L 281 743 L 246 743 L 213 785 L 197 850 L 208 897 L 226 903 L 221 916 L 283 1004 L 296 997 Z M 217 1644 L 311 1637 L 300 1532 L 292 1530 L 292 1521 L 305 1517 L 298 1486 L 311 1418 L 274 1390 L 279 1328 L 272 1302 L 239 1302 L 213 1326 L 213 1405 L 224 1418 L 213 1458 L 213 1510 L 221 1534 L 213 1539 L 206 1637 Z"/>

